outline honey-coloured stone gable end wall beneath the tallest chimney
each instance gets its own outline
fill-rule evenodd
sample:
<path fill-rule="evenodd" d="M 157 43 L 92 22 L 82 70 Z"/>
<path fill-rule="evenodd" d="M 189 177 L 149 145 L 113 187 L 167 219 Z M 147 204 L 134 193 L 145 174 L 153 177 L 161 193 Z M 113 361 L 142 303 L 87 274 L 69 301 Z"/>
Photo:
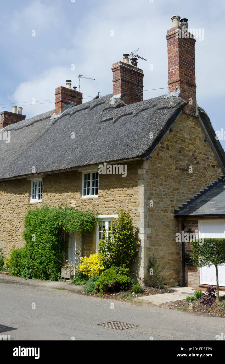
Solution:
<path fill-rule="evenodd" d="M 157 258 L 163 267 L 162 282 L 169 285 L 180 281 L 180 247 L 175 241 L 179 224 L 174 218 L 174 208 L 222 174 L 208 141 L 204 142 L 204 139 L 198 118 L 182 113 L 145 163 L 144 213 L 147 223 L 142 259 Z M 192 173 L 189 173 L 189 166 L 193 167 Z M 150 201 L 153 201 L 152 207 Z M 150 283 L 146 268 L 144 276 Z"/>

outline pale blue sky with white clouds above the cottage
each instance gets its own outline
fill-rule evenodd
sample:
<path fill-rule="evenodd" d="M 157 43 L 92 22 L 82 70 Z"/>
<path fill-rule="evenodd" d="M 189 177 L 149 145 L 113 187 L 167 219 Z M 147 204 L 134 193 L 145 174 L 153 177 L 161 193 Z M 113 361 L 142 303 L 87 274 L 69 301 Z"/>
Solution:
<path fill-rule="evenodd" d="M 11 0 L 1 3 L 1 13 L 0 111 L 22 106 L 29 118 L 53 110 L 55 88 L 65 86 L 67 79 L 79 87 L 79 74 L 95 79 L 81 79 L 83 102 L 98 91 L 100 96 L 110 94 L 112 64 L 137 48 L 147 59 L 138 61 L 144 71 L 144 99 L 166 94 L 165 35 L 171 17 L 178 14 L 188 18 L 189 28 L 199 29 L 197 104 L 215 131 L 225 131 L 224 0 Z M 225 140 L 221 144 L 225 149 Z"/>

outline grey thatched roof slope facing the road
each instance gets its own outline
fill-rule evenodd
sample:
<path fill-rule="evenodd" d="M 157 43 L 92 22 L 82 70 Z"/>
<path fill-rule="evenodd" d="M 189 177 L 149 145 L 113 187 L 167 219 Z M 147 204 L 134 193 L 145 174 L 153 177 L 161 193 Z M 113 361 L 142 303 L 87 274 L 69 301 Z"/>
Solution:
<path fill-rule="evenodd" d="M 124 105 L 107 95 L 5 127 L 11 142 L 0 141 L 0 179 L 145 157 L 157 146 L 186 102 L 164 95 Z M 75 138 L 71 138 L 71 133 Z M 153 138 L 149 133 L 153 132 Z"/>

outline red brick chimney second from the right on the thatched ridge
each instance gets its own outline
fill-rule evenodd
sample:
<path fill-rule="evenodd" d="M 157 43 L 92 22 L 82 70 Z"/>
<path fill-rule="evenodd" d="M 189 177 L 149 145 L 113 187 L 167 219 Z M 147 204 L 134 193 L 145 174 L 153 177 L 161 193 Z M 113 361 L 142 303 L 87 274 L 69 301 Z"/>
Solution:
<path fill-rule="evenodd" d="M 129 64 L 129 54 L 124 54 L 123 62 L 112 66 L 113 96 L 121 98 L 127 105 L 143 100 L 144 74 L 136 61 L 137 58 L 132 58 L 132 64 Z"/>

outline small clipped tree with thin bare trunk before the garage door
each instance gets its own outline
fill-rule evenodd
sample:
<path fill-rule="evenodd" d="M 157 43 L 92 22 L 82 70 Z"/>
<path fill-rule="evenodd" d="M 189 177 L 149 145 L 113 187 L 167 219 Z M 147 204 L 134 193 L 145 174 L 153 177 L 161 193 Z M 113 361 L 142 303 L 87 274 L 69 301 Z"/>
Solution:
<path fill-rule="evenodd" d="M 219 302 L 218 265 L 225 264 L 225 239 L 204 238 L 204 242 L 191 241 L 192 252 L 190 257 L 197 267 L 216 268 L 216 301 Z"/>

